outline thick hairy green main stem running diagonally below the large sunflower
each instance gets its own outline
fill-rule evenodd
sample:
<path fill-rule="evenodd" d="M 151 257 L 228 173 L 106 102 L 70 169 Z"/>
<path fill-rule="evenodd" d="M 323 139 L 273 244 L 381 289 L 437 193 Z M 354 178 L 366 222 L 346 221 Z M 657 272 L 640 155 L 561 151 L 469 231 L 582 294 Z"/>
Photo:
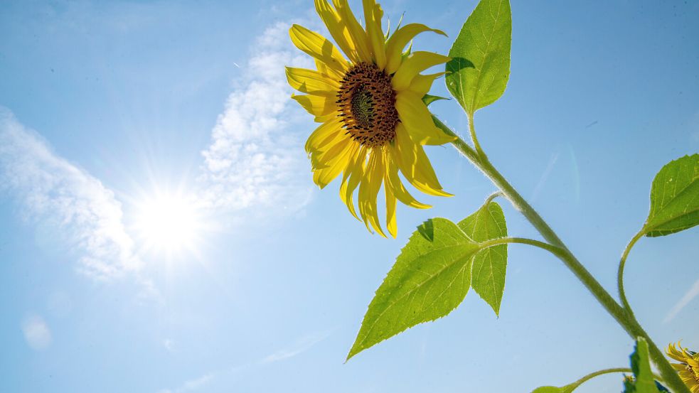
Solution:
<path fill-rule="evenodd" d="M 646 339 L 649 345 L 649 355 L 653 363 L 658 367 L 658 370 L 666 382 L 668 387 L 670 387 L 675 393 L 690 393 L 687 385 L 685 385 L 677 372 L 670 365 L 670 362 L 666 359 L 663 352 L 658 349 L 658 346 L 653 343 L 653 340 L 649 337 L 648 333 L 641 328 L 641 325 L 636 321 L 636 319 L 626 313 L 626 309 L 617 303 L 609 292 L 604 289 L 604 287 L 599 284 L 599 281 L 592 276 L 592 274 L 585 269 L 585 267 L 577 260 L 575 255 L 570 252 L 570 250 L 565 246 L 565 243 L 556 235 L 556 233 L 551 229 L 548 223 L 543 220 L 539 213 L 532 208 L 531 205 L 520 195 L 513 186 L 508 183 L 506 178 L 504 178 L 500 172 L 491 164 L 489 159 L 479 152 L 479 145 L 477 145 L 477 140 L 474 139 L 474 144 L 476 144 L 476 151 L 474 151 L 469 144 L 467 144 L 463 139 L 461 139 L 452 129 L 449 129 L 444 123 L 439 121 L 436 117 L 434 123 L 449 135 L 456 136 L 456 139 L 452 141 L 454 147 L 457 148 L 466 158 L 469 158 L 471 163 L 474 163 L 476 168 L 479 168 L 485 176 L 487 176 L 497 188 L 501 190 L 505 198 L 510 200 L 510 203 L 514 208 L 519 210 L 519 212 L 524 215 L 524 217 L 535 227 L 540 235 L 552 246 L 561 249 L 560 254 L 557 257 L 565 264 L 565 266 L 572 271 L 577 279 L 582 282 L 587 290 L 594 296 L 595 299 L 607 310 L 607 313 L 611 315 L 619 325 L 621 325 L 626 333 L 628 333 L 631 338 L 636 340 L 638 337 L 643 337 Z M 472 116 L 469 116 L 469 129 L 471 130 L 472 138 L 475 136 L 475 130 L 473 126 Z"/>

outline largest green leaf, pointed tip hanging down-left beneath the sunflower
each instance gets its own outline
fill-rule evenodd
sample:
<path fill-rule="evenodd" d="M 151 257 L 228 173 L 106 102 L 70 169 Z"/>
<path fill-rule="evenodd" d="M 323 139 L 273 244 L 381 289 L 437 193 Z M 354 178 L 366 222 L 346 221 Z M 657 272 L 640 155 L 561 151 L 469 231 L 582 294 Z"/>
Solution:
<path fill-rule="evenodd" d="M 445 218 L 420 225 L 376 291 L 347 359 L 457 308 L 471 286 L 478 250 L 479 244 Z"/>

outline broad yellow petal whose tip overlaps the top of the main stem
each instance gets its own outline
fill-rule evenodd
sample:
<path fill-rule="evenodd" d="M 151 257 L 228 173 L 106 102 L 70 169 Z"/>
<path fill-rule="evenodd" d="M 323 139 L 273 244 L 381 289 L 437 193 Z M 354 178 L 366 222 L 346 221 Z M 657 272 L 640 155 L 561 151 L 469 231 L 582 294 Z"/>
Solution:
<path fill-rule="evenodd" d="M 432 114 L 414 92 L 398 92 L 395 96 L 395 109 L 410 138 L 418 144 L 442 145 L 456 139 L 456 136 L 444 134 L 444 131 L 434 125 Z"/>

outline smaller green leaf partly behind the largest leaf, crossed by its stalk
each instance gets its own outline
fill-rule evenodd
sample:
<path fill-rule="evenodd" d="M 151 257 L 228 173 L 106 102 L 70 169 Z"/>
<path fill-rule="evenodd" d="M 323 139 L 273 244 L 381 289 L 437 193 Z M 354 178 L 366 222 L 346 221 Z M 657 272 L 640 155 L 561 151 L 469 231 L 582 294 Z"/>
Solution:
<path fill-rule="evenodd" d="M 495 202 L 483 205 L 474 214 L 459 222 L 459 228 L 476 242 L 507 236 L 503 210 Z M 500 303 L 505 291 L 507 268 L 507 244 L 489 247 L 474 257 L 471 286 L 486 303 L 500 313 Z"/>

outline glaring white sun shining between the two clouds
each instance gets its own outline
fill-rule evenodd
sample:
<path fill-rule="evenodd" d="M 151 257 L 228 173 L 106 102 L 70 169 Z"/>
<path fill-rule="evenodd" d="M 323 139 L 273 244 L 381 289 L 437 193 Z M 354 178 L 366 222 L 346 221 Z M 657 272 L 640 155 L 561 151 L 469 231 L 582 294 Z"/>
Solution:
<path fill-rule="evenodd" d="M 146 250 L 174 255 L 196 249 L 203 222 L 195 198 L 155 193 L 137 205 L 134 229 Z"/>

